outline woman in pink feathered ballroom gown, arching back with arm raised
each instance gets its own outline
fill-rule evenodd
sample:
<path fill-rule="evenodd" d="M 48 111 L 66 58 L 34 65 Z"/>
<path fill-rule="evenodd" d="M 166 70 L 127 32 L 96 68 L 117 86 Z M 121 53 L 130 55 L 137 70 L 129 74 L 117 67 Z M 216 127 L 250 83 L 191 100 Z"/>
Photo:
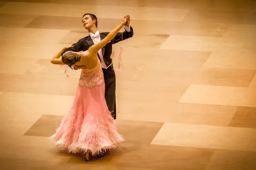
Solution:
<path fill-rule="evenodd" d="M 61 121 L 60 127 L 50 138 L 71 153 L 85 153 L 102 157 L 106 150 L 116 148 L 123 137 L 117 132 L 113 118 L 105 101 L 105 83 L 97 52 L 110 42 L 126 23 L 126 19 L 111 31 L 105 39 L 91 46 L 87 51 L 59 51 L 51 60 L 52 64 L 69 65 L 81 69 L 79 85 L 73 105 Z"/>

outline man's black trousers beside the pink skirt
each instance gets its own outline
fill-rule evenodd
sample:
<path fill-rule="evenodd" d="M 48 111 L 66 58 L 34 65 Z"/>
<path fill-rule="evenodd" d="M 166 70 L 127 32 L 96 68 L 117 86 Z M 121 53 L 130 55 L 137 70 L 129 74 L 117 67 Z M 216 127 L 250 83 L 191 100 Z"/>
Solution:
<path fill-rule="evenodd" d="M 105 79 L 105 99 L 108 105 L 108 110 L 116 119 L 116 74 L 113 70 L 113 65 L 107 69 L 102 68 Z"/>

